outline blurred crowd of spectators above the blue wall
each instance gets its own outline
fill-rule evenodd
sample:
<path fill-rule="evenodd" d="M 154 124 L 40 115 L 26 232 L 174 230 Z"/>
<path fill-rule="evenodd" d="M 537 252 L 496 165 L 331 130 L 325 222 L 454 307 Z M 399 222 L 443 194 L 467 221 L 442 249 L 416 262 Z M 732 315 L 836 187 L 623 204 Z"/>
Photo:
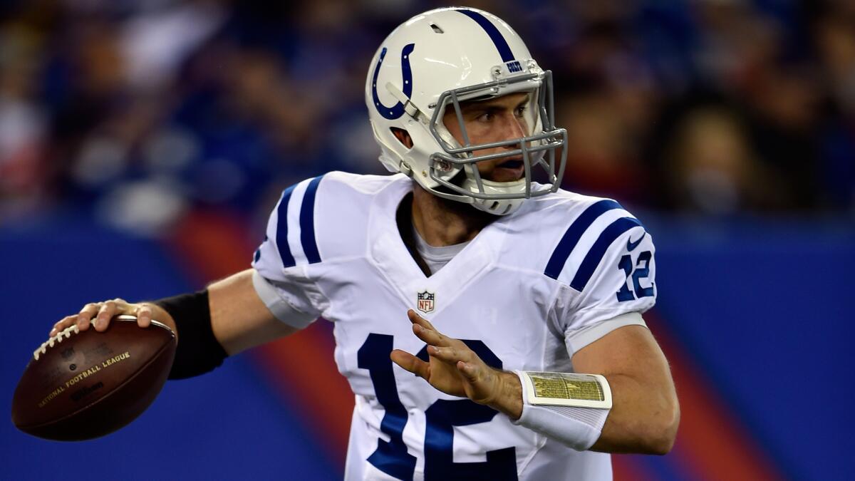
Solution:
<path fill-rule="evenodd" d="M 855 216 L 855 3 L 477 0 L 556 75 L 564 186 L 697 216 Z M 374 50 L 426 0 L 0 3 L 0 224 L 264 218 L 380 173 Z"/>

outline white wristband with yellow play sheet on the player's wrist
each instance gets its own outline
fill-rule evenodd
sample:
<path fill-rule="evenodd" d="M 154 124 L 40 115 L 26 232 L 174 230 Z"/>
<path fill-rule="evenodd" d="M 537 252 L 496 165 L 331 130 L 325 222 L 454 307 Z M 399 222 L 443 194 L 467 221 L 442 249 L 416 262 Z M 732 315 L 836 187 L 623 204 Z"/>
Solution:
<path fill-rule="evenodd" d="M 611 389 L 598 374 L 515 371 L 522 415 L 514 424 L 584 451 L 597 442 L 611 409 Z"/>

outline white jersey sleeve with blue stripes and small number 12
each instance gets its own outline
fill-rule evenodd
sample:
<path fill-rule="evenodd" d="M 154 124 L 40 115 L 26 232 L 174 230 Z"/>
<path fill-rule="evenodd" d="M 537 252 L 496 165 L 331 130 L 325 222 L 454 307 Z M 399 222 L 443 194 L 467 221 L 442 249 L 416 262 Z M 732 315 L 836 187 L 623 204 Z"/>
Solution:
<path fill-rule="evenodd" d="M 554 312 L 572 356 L 612 330 L 645 325 L 641 314 L 656 303 L 656 249 L 644 225 L 610 200 L 587 209 L 568 234 Z"/>

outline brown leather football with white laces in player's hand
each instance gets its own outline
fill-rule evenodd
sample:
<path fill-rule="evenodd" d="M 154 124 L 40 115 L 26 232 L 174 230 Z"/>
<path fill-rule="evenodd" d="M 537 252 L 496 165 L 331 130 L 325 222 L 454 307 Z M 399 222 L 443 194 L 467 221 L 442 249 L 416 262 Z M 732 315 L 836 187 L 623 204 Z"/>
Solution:
<path fill-rule="evenodd" d="M 38 347 L 12 400 L 12 421 L 32 436 L 81 441 L 127 425 L 166 382 L 175 335 L 117 316 L 104 332 L 72 326 Z"/>

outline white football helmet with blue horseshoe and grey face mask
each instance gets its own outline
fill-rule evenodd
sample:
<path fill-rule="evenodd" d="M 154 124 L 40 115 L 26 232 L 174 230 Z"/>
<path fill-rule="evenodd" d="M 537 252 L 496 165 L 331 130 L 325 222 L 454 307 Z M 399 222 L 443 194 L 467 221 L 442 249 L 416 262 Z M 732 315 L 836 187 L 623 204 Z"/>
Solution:
<path fill-rule="evenodd" d="M 400 60 L 398 61 L 398 56 Z M 530 132 L 519 139 L 472 145 L 460 103 L 513 92 L 531 92 L 526 110 Z M 410 175 L 428 192 L 505 215 L 523 199 L 555 192 L 567 158 L 567 131 L 555 128 L 551 72 L 542 70 L 519 35 L 497 16 L 478 9 L 434 9 L 404 22 L 374 54 L 365 82 L 380 162 L 392 172 Z M 463 145 L 443 123 L 451 106 L 463 133 Z M 410 134 L 407 148 L 393 134 Z M 516 150 L 475 155 L 499 146 Z M 561 150 L 556 162 L 556 151 Z M 522 156 L 525 177 L 519 181 L 482 179 L 475 163 Z M 546 182 L 534 189 L 535 166 Z M 463 170 L 464 175 L 459 175 Z"/>

